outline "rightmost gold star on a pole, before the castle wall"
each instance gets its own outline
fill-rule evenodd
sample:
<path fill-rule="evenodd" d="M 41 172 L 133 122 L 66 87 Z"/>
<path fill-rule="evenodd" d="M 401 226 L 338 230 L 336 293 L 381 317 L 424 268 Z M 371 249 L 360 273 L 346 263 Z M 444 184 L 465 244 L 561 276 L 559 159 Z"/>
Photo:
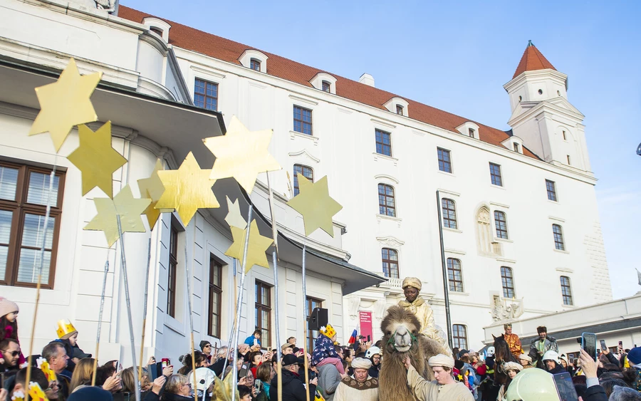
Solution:
<path fill-rule="evenodd" d="M 309 236 L 320 228 L 333 237 L 332 217 L 343 207 L 329 196 L 327 176 L 318 182 L 310 182 L 302 174 L 298 174 L 298 188 L 301 192 L 287 204 L 303 215 L 305 235 Z"/>

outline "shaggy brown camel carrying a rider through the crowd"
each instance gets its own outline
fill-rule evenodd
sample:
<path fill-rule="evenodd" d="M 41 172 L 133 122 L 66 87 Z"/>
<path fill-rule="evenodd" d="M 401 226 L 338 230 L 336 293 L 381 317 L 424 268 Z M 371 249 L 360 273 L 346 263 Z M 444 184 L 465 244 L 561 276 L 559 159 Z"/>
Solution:
<path fill-rule="evenodd" d="M 437 341 L 420 334 L 421 325 L 414 315 L 401 306 L 390 306 L 380 330 L 382 358 L 380 366 L 378 397 L 380 401 L 407 400 L 415 397 L 407 386 L 407 370 L 403 364 L 405 355 L 410 355 L 412 365 L 427 380 L 434 380 L 427 360 L 439 353 L 442 347 Z"/>

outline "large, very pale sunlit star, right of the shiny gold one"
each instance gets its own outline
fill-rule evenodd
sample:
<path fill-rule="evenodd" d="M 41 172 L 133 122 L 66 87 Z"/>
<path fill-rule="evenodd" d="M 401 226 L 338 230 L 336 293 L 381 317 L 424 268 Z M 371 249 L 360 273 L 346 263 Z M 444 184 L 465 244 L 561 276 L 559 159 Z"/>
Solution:
<path fill-rule="evenodd" d="M 216 156 L 211 179 L 234 177 L 248 194 L 260 172 L 281 170 L 268 152 L 272 130 L 250 132 L 234 115 L 227 133 L 202 140 Z"/>

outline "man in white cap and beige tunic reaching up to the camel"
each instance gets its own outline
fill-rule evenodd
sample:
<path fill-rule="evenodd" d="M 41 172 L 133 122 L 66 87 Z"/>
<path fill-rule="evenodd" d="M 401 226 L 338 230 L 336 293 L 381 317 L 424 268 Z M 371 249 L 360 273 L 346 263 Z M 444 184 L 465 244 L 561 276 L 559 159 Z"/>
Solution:
<path fill-rule="evenodd" d="M 434 373 L 433 382 L 425 380 L 416 371 L 410 356 L 405 357 L 407 369 L 407 384 L 410 385 L 414 396 L 419 401 L 474 401 L 474 396 L 463 383 L 457 382 L 452 376 L 454 359 L 447 355 L 434 355 L 427 364 Z"/>

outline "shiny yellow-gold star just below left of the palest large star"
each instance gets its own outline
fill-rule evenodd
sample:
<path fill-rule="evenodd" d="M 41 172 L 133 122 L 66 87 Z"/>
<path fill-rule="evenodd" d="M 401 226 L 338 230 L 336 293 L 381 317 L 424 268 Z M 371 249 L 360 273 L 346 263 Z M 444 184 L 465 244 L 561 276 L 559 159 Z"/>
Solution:
<path fill-rule="evenodd" d="M 178 170 L 158 172 L 165 192 L 156 204 L 156 209 L 176 209 L 182 224 L 187 226 L 200 208 L 220 207 L 209 179 L 209 170 L 201 170 L 196 157 L 189 152 Z"/>

